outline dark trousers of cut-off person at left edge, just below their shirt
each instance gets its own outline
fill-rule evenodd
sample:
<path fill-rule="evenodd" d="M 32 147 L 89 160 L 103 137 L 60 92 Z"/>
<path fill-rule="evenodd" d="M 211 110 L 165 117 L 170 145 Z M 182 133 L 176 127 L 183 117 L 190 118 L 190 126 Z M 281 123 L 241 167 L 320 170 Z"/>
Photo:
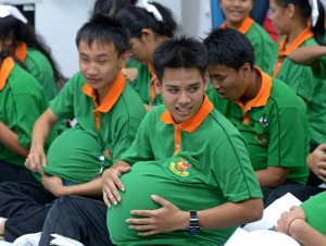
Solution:
<path fill-rule="evenodd" d="M 33 182 L 38 183 L 26 168 L 0 160 L 0 183 L 2 182 Z"/>

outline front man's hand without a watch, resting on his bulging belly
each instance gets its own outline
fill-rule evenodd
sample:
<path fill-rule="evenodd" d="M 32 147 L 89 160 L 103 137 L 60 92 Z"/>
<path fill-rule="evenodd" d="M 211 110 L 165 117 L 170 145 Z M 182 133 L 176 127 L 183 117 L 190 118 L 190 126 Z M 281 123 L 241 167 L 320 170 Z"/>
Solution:
<path fill-rule="evenodd" d="M 123 162 L 126 163 L 126 162 Z M 121 182 L 120 177 L 130 171 L 130 167 L 115 164 L 110 169 L 105 170 L 102 174 L 102 189 L 103 189 L 103 200 L 108 207 L 111 207 L 111 202 L 117 205 L 121 201 L 120 190 L 124 192 L 125 187 Z"/>

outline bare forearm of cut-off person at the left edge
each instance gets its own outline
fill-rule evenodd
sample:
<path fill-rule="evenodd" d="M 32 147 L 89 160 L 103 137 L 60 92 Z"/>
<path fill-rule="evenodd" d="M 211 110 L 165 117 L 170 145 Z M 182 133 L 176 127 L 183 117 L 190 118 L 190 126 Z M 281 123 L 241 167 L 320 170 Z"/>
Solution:
<path fill-rule="evenodd" d="M 22 146 L 18 142 L 18 135 L 10 130 L 3 122 L 0 121 L 0 142 L 11 151 L 26 158 L 28 149 Z"/>

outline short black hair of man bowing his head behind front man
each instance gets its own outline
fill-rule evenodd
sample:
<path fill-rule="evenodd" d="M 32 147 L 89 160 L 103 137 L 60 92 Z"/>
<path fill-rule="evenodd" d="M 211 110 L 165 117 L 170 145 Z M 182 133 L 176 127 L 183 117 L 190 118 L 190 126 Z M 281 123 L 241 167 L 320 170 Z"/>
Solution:
<path fill-rule="evenodd" d="M 226 65 L 239 70 L 244 63 L 253 69 L 253 48 L 246 35 L 233 28 L 212 30 L 203 40 L 209 51 L 209 64 Z"/>

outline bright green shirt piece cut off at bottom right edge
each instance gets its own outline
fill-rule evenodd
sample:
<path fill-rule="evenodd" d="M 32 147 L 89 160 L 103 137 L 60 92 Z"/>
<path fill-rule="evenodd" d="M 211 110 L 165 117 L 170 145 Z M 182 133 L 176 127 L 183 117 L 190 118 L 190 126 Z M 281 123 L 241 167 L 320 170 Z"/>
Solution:
<path fill-rule="evenodd" d="M 326 192 L 310 197 L 301 204 L 306 222 L 326 236 Z"/>

